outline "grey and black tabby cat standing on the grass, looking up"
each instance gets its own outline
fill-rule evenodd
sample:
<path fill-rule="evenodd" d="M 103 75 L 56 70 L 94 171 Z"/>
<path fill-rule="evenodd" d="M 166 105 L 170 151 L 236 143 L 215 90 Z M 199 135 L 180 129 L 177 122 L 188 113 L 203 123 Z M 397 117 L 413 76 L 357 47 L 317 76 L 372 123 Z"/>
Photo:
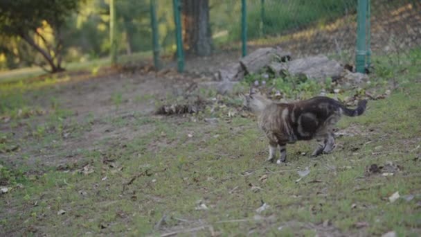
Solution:
<path fill-rule="evenodd" d="M 280 149 L 277 163 L 287 160 L 287 143 L 316 139 L 319 142 L 312 157 L 329 153 L 334 148 L 334 125 L 341 115 L 359 116 L 366 110 L 367 100 L 359 100 L 357 109 L 348 109 L 332 98 L 317 96 L 294 103 L 276 103 L 260 92 L 250 90 L 244 96 L 244 106 L 258 116 L 258 125 L 269 139 L 268 161 L 276 161 L 276 149 Z"/>

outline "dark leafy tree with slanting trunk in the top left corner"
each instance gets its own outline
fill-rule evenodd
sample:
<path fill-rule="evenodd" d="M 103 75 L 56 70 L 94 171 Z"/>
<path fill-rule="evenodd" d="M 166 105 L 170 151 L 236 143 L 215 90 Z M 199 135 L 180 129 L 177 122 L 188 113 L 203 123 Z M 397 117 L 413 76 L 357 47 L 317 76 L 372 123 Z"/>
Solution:
<path fill-rule="evenodd" d="M 83 0 L 0 0 L 0 31 L 20 37 L 39 52 L 50 67 L 39 64 L 46 71 L 63 71 L 62 28 L 66 18 L 78 10 L 80 1 Z"/>

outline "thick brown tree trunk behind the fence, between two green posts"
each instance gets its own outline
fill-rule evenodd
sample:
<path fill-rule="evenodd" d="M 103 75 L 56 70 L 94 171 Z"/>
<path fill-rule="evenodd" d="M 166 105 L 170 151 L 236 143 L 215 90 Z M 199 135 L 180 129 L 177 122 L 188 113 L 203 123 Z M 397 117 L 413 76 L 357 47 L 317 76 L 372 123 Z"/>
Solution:
<path fill-rule="evenodd" d="M 212 53 L 209 0 L 183 0 L 183 45 L 186 53 L 208 56 Z"/>

